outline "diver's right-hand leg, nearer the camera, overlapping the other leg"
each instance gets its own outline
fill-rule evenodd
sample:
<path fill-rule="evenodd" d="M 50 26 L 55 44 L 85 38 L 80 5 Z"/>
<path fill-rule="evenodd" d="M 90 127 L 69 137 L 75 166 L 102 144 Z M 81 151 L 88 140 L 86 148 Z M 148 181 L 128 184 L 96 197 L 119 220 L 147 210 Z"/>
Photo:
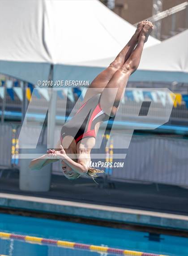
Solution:
<path fill-rule="evenodd" d="M 103 90 L 100 103 L 103 111 L 105 111 L 108 115 L 115 115 L 119 103 L 124 96 L 128 78 L 137 70 L 141 60 L 144 43 L 147 41 L 152 30 L 153 24 L 151 22 L 146 22 L 140 32 L 136 48 L 132 51 L 124 65 L 115 72 L 111 80 L 108 82 L 106 88 Z M 108 88 L 111 90 L 106 90 Z"/>

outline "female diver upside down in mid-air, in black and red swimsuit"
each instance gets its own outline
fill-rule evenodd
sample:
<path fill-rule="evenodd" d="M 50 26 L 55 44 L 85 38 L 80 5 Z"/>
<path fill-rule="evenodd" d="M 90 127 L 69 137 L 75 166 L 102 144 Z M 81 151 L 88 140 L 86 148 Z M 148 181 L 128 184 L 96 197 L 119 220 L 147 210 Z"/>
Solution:
<path fill-rule="evenodd" d="M 95 145 L 99 126 L 103 121 L 115 116 L 128 78 L 137 70 L 144 43 L 152 30 L 153 24 L 149 20 L 137 25 L 137 30 L 124 49 L 109 67 L 92 81 L 89 88 L 93 89 L 87 90 L 84 103 L 76 115 L 63 125 L 56 149 L 49 149 L 47 154 L 32 160 L 29 165 L 31 170 L 41 169 L 60 160 L 63 173 L 70 180 L 84 174 L 94 179 L 98 172 L 102 172 L 89 167 L 90 152 Z M 115 88 L 115 93 L 113 90 L 104 90 L 107 88 Z"/>

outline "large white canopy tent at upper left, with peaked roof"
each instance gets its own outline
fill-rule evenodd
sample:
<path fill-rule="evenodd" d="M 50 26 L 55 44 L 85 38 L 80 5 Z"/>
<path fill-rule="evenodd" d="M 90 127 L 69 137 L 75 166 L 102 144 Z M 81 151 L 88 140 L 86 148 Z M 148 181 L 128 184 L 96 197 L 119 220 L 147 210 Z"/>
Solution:
<path fill-rule="evenodd" d="M 97 0 L 1 0 L 0 72 L 36 84 L 52 64 L 54 80 L 91 81 L 134 31 Z"/>

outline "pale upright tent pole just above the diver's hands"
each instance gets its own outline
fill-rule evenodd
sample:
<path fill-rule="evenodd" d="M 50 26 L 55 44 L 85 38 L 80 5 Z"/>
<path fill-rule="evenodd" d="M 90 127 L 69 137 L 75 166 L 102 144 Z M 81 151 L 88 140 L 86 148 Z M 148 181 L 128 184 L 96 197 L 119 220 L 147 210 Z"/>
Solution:
<path fill-rule="evenodd" d="M 54 66 L 51 64 L 50 68 L 50 75 L 49 80 L 53 81 L 53 70 Z M 55 126 L 56 126 L 56 103 L 57 103 L 57 91 L 52 88 L 48 89 L 51 90 L 51 98 L 50 104 L 48 109 L 48 125 L 47 125 L 47 145 L 49 148 L 54 148 L 54 133 L 55 133 Z"/>

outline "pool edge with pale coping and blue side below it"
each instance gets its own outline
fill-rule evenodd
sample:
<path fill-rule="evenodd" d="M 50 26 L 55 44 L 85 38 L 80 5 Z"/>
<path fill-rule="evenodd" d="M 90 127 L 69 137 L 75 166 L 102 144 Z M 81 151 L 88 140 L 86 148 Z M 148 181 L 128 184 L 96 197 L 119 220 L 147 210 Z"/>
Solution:
<path fill-rule="evenodd" d="M 0 207 L 188 230 L 188 216 L 185 215 L 40 198 L 13 193 L 0 193 Z"/>

